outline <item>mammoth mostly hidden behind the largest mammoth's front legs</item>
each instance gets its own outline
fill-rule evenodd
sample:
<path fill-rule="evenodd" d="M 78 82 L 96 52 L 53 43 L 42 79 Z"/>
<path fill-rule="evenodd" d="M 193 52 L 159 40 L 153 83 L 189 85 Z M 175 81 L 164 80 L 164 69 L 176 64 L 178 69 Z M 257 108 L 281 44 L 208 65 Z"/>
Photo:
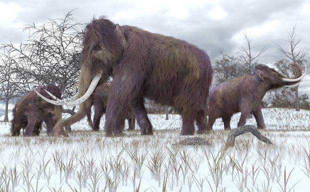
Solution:
<path fill-rule="evenodd" d="M 99 130 L 101 116 L 106 112 L 106 104 L 110 86 L 110 83 L 101 84 L 97 86 L 95 92 L 91 95 L 92 105 L 94 106 L 94 118 L 93 121 L 91 121 L 91 110 L 89 109 L 87 112 L 87 119 L 90 127 L 94 131 Z M 126 119 L 128 119 L 129 124 L 128 130 L 134 130 L 136 120 L 131 110 L 128 110 L 126 113 Z"/>

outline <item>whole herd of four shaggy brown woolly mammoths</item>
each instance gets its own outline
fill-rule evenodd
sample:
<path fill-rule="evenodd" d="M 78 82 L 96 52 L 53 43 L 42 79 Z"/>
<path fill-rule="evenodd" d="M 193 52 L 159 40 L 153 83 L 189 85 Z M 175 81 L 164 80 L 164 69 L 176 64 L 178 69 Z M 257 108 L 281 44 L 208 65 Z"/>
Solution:
<path fill-rule="evenodd" d="M 86 26 L 77 94 L 61 100 L 61 92 L 53 84 L 29 92 L 13 109 L 11 135 L 19 135 L 20 129 L 25 130 L 24 136 L 38 135 L 44 121 L 48 134 L 67 136 L 64 126 L 85 116 L 92 129 L 99 130 L 103 113 L 106 136 L 122 135 L 126 118 L 129 129 L 134 129 L 136 119 L 141 134 L 152 135 L 144 98 L 173 106 L 182 117 L 181 135 L 195 133 L 194 121 L 197 133 L 204 134 L 220 117 L 224 128 L 230 129 L 231 117 L 237 112 L 241 112 L 238 127 L 245 125 L 252 113 L 258 128 L 263 129 L 261 102 L 266 91 L 297 86 L 306 73 L 307 69 L 302 74 L 299 65 L 293 66 L 297 70 L 294 79 L 258 65 L 252 74 L 225 81 L 209 94 L 213 69 L 204 50 L 184 40 L 100 17 Z M 107 83 L 110 77 L 113 80 Z M 79 108 L 71 117 L 61 119 L 62 105 Z"/>

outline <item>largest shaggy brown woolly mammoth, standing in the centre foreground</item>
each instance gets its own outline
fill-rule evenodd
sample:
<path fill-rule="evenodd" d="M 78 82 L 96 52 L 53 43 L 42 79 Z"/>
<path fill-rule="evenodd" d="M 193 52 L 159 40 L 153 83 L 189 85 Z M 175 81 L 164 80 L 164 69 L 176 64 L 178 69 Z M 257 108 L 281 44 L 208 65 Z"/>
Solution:
<path fill-rule="evenodd" d="M 142 135 L 153 134 L 144 108 L 144 97 L 174 106 L 182 116 L 182 135 L 207 130 L 206 100 L 212 80 L 208 54 L 186 41 L 151 33 L 134 26 L 120 26 L 101 17 L 86 26 L 78 94 L 51 101 L 56 105 L 78 105 L 78 112 L 54 127 L 54 135 L 66 135 L 63 126 L 79 121 L 91 105 L 90 94 L 97 83 L 113 77 L 105 114 L 107 136 L 122 135 L 129 103 Z"/>

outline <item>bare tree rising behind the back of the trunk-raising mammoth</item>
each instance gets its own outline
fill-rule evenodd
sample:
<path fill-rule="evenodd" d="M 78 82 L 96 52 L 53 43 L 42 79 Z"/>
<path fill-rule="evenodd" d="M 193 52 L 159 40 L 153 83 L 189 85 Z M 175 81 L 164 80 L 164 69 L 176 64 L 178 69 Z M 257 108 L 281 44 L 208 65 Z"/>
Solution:
<path fill-rule="evenodd" d="M 264 46 L 259 51 L 255 52 L 254 49 L 257 48 L 257 46 L 252 45 L 253 37 L 251 38 L 250 35 L 245 34 L 244 35 L 244 46 L 241 46 L 240 51 L 238 52 L 238 58 L 239 62 L 242 65 L 242 73 L 248 74 L 252 73 L 255 66 L 259 64 L 259 61 L 267 49 L 267 46 Z"/>

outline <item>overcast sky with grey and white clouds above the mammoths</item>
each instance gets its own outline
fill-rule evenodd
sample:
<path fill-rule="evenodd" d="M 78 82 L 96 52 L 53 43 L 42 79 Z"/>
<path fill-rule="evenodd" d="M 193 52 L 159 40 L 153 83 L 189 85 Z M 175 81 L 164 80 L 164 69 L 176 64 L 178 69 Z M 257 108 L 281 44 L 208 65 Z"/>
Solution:
<path fill-rule="evenodd" d="M 302 46 L 310 47 L 309 0 L 0 0 L 0 43 L 20 43 L 24 24 L 40 24 L 47 18 L 63 18 L 70 10 L 81 22 L 106 15 L 121 25 L 184 39 L 205 49 L 212 61 L 220 50 L 234 54 L 253 37 L 257 50 L 268 45 L 261 62 L 272 64 L 287 47 L 287 30 L 296 25 Z M 310 55 L 309 55 L 310 56 Z M 310 94 L 310 77 L 300 86 Z"/>

